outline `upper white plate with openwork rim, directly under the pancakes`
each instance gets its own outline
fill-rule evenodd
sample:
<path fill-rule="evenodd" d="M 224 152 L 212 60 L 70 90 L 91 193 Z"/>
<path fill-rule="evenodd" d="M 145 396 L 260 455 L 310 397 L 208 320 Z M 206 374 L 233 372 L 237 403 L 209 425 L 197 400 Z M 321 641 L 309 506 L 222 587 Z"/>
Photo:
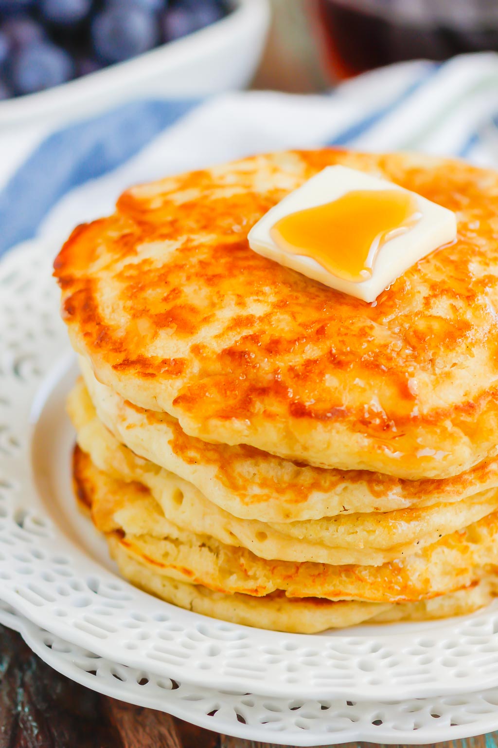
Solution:
<path fill-rule="evenodd" d="M 28 242 L 0 265 L 1 599 L 102 657 L 220 690 L 356 701 L 498 684 L 496 605 L 441 622 L 305 636 L 199 616 L 121 580 L 70 488 L 63 401 L 74 373 L 50 277 L 55 251 Z"/>

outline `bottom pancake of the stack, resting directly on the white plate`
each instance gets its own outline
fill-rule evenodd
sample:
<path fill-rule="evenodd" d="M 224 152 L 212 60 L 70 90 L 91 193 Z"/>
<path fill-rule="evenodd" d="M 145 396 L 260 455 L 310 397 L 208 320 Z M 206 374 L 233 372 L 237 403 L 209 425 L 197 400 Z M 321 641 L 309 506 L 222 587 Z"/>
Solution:
<path fill-rule="evenodd" d="M 90 468 L 90 470 L 89 470 Z M 81 450 L 75 450 L 75 492 L 80 506 L 88 512 L 96 512 L 100 505 L 105 520 L 105 502 L 102 502 L 102 485 L 108 485 L 107 476 L 92 468 L 90 460 Z M 113 488 L 116 488 L 114 484 Z M 128 484 L 130 488 L 130 484 Z M 104 489 L 106 490 L 106 489 Z M 141 500 L 147 499 L 147 491 L 134 484 Z M 100 494 L 100 498 L 99 498 Z M 128 491 L 119 494 L 122 506 L 130 506 Z M 149 497 L 150 500 L 150 497 Z M 116 502 L 113 494 L 111 504 Z M 131 502 L 133 503 L 133 502 Z M 93 515 L 95 519 L 95 514 Z M 288 598 L 283 592 L 255 598 L 251 595 L 216 592 L 207 587 L 186 583 L 158 573 L 144 565 L 122 545 L 120 533 L 110 521 L 107 512 L 106 539 L 111 556 L 116 560 L 123 576 L 153 595 L 196 613 L 220 618 L 234 623 L 270 628 L 277 631 L 312 634 L 328 628 L 342 628 L 367 620 L 388 622 L 391 620 L 424 620 L 441 616 L 470 613 L 488 604 L 496 593 L 497 582 L 490 576 L 471 586 L 438 598 L 416 603 L 388 604 L 361 601 L 329 601 L 323 598 Z"/>

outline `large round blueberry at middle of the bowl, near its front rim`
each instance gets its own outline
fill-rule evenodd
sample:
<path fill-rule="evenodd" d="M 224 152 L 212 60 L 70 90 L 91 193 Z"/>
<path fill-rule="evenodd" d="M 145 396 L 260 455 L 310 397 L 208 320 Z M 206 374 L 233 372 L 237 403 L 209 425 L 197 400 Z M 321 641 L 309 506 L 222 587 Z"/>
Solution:
<path fill-rule="evenodd" d="M 108 7 L 93 19 L 92 40 L 102 61 L 128 60 L 158 42 L 155 18 L 138 7 Z"/>

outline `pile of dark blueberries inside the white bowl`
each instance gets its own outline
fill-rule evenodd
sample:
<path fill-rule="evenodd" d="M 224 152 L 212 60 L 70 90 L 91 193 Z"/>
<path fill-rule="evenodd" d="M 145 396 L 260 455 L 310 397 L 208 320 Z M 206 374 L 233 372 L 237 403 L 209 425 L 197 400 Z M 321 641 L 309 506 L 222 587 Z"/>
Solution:
<path fill-rule="evenodd" d="M 0 0 L 0 99 L 128 60 L 229 9 L 229 0 Z"/>

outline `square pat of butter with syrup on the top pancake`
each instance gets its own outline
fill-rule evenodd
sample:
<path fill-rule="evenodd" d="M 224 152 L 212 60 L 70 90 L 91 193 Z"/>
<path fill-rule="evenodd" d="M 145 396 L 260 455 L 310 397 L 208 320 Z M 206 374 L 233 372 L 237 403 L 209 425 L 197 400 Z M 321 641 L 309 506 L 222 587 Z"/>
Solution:
<path fill-rule="evenodd" d="M 451 210 L 344 166 L 290 192 L 248 236 L 258 254 L 364 301 L 455 238 Z"/>

